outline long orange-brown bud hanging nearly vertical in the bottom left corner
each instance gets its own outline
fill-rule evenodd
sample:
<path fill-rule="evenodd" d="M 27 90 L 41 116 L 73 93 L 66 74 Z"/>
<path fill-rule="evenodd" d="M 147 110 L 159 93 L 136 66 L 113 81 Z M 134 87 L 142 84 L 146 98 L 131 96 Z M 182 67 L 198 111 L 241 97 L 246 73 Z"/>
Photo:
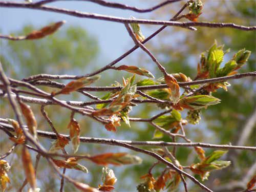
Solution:
<path fill-rule="evenodd" d="M 36 188 L 35 170 L 32 164 L 29 151 L 25 145 L 23 146 L 22 150 L 22 162 L 27 181 L 29 182 L 31 188 L 34 190 Z"/>

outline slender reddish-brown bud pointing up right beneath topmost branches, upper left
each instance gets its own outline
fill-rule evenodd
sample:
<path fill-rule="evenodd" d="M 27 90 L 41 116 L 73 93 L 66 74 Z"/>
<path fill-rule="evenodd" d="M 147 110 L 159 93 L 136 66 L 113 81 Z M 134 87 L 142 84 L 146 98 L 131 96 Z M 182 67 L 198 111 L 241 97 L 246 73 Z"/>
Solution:
<path fill-rule="evenodd" d="M 41 28 L 40 30 L 33 31 L 32 33 L 28 34 L 25 37 L 25 39 L 39 39 L 45 37 L 57 31 L 57 29 L 60 28 L 65 23 L 66 21 L 62 20 L 61 22 L 57 22 L 52 25 L 46 26 L 44 28 Z"/>

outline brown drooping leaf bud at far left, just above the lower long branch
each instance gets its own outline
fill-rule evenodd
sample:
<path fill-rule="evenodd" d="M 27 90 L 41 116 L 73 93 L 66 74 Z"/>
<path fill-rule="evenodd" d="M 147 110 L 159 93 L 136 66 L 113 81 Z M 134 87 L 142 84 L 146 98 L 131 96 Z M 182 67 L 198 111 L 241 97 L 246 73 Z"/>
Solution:
<path fill-rule="evenodd" d="M 29 132 L 36 138 L 36 129 L 37 129 L 37 122 L 34 116 L 33 111 L 31 110 L 30 106 L 19 102 L 20 109 L 22 109 L 22 113 L 26 119 L 26 123 L 28 125 Z"/>

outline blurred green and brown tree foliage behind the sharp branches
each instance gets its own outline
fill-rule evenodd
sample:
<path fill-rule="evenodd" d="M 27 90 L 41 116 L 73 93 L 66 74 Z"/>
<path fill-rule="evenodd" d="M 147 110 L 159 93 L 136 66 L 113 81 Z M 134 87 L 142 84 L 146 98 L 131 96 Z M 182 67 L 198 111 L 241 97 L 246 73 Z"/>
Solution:
<path fill-rule="evenodd" d="M 153 1 L 143 1 L 148 6 L 155 4 Z M 166 6 L 153 13 L 151 18 L 157 19 L 164 17 L 169 19 L 175 14 L 184 2 Z M 199 21 L 210 22 L 226 22 L 236 23 L 238 25 L 256 25 L 255 20 L 255 1 L 204 1 L 203 14 Z M 185 10 L 184 13 L 187 13 Z M 181 20 L 186 22 L 187 20 Z M 22 31 L 15 31 L 14 34 L 27 34 L 34 27 L 25 26 Z M 155 29 L 151 26 L 142 26 L 148 31 Z M 168 27 L 152 41 L 146 44 L 148 49 L 152 50 L 169 73 L 182 72 L 192 79 L 197 74 L 197 63 L 200 54 L 206 51 L 216 39 L 218 44 L 225 44 L 225 48 L 231 48 L 231 52 L 225 56 L 228 60 L 232 55 L 246 48 L 252 52 L 247 64 L 239 70 L 239 72 L 255 71 L 255 32 L 241 31 L 236 29 L 212 29 L 197 28 L 196 32 L 181 28 Z M 33 41 L 4 41 L 0 40 L 1 61 L 8 75 L 12 78 L 22 79 L 24 77 L 39 74 L 84 74 L 98 69 L 107 63 L 99 63 L 97 57 L 100 57 L 100 48 L 97 42 L 97 36 L 88 34 L 86 29 L 79 26 L 60 29 L 57 33 L 44 39 Z M 133 46 L 129 45 L 128 48 Z M 115 49 L 119 49 L 116 47 Z M 114 50 L 113 50 L 114 51 Z M 160 72 L 155 64 L 142 51 L 136 51 L 129 57 L 127 64 L 143 67 L 153 72 L 158 78 Z M 122 64 L 122 61 L 120 62 Z M 117 65 L 118 66 L 118 65 Z M 107 71 L 102 73 L 102 79 L 96 83 L 99 86 L 109 86 L 115 80 L 121 80 L 121 77 L 129 77 L 130 74 L 123 72 Z M 136 77 L 141 79 L 141 77 Z M 67 82 L 67 81 L 61 81 Z M 218 90 L 213 95 L 222 101 L 218 105 L 210 106 L 207 110 L 203 110 L 202 120 L 197 125 L 186 125 L 185 131 L 187 137 L 195 142 L 218 143 L 218 144 L 241 144 L 255 145 L 255 80 L 253 78 L 244 78 L 238 80 L 230 80 L 231 87 L 228 92 Z M 46 91 L 51 91 L 44 87 L 40 87 Z M 93 93 L 102 96 L 103 93 Z M 79 96 L 77 93 L 71 96 L 61 96 L 61 99 L 89 101 L 85 96 Z M 13 113 L 9 109 L 7 100 L 1 99 L 1 116 L 3 118 L 13 117 Z M 40 106 L 31 104 L 36 114 L 40 130 L 50 131 L 47 122 L 40 114 Z M 68 134 L 67 125 L 69 122 L 70 111 L 60 108 L 59 106 L 47 106 L 46 111 L 52 119 L 59 133 Z M 147 118 L 157 114 L 160 110 L 154 104 L 140 104 L 134 107 L 130 116 Z M 254 116 L 253 116 L 254 115 Z M 186 111 L 182 113 L 183 118 Z M 104 137 L 115 139 L 129 140 L 152 140 L 154 128 L 151 125 L 141 122 L 132 122 L 131 128 L 122 124 L 116 133 L 107 132 L 102 124 L 91 121 L 76 115 L 75 118 L 81 125 L 81 136 L 88 137 Z M 248 121 L 252 121 L 248 125 Z M 249 128 L 248 128 L 249 126 Z M 247 129 L 246 129 L 247 127 Z M 244 132 L 249 132 L 246 138 L 241 138 Z M 12 142 L 1 132 L 1 153 L 4 153 L 12 145 Z M 157 140 L 157 139 L 155 139 Z M 161 140 L 172 141 L 168 137 Z M 45 147 L 50 147 L 51 143 L 48 139 L 40 138 L 40 142 Z M 183 140 L 178 139 L 178 142 Z M 148 147 L 145 147 L 148 149 Z M 70 150 L 68 146 L 67 150 Z M 70 150 L 71 151 L 71 150 Z M 206 150 L 210 153 L 211 150 Z M 19 156 L 20 147 L 17 147 L 14 155 L 8 157 L 8 161 L 12 165 L 10 170 L 11 187 L 9 191 L 15 191 L 24 180 L 24 173 L 20 170 Z M 99 144 L 81 143 L 78 153 L 99 154 L 104 152 L 129 152 L 124 148 L 115 146 L 106 146 Z M 33 153 L 33 152 L 32 152 Z M 134 153 L 135 154 L 135 153 Z M 35 155 L 35 154 L 34 154 Z M 117 191 L 135 191 L 136 185 L 139 184 L 139 177 L 146 174 L 148 168 L 155 162 L 154 159 L 147 156 L 137 154 L 143 158 L 141 165 L 129 165 L 111 168 L 114 169 L 118 181 L 115 185 Z M 34 156 L 35 157 L 35 156 Z M 191 148 L 179 147 L 177 149 L 177 158 L 184 166 L 190 165 L 197 161 L 196 153 Z M 230 181 L 243 180 L 248 170 L 255 162 L 255 153 L 250 151 L 230 151 L 224 156 L 226 160 L 231 160 L 232 164 L 224 170 L 211 173 L 209 181 L 205 184 L 213 190 L 236 191 L 240 189 L 238 186 L 231 186 Z M 35 158 L 34 158 L 35 160 Z M 84 174 L 76 170 L 67 170 L 67 175 L 78 181 L 89 183 L 97 187 L 101 183 L 101 166 L 95 165 L 88 161 L 81 161 L 89 169 L 89 174 Z M 154 176 L 158 176 L 163 170 L 163 165 L 157 165 L 154 169 Z M 41 191 L 58 191 L 59 180 L 52 173 L 48 163 L 41 158 L 37 172 L 37 183 Z M 200 179 L 199 177 L 197 177 Z M 193 191 L 200 191 L 194 183 L 188 182 L 188 186 Z M 177 191 L 182 191 L 181 188 Z M 75 191 L 72 184 L 66 182 L 65 191 Z"/>

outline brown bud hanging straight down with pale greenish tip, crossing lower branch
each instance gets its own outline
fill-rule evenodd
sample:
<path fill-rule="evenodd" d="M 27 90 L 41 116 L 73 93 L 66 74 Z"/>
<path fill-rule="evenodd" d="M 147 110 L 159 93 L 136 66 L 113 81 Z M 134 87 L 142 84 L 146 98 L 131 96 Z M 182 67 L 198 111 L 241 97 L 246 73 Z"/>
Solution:
<path fill-rule="evenodd" d="M 72 147 L 74 153 L 76 153 L 80 144 L 80 125 L 75 119 L 71 119 L 68 125 L 68 129 Z"/>

